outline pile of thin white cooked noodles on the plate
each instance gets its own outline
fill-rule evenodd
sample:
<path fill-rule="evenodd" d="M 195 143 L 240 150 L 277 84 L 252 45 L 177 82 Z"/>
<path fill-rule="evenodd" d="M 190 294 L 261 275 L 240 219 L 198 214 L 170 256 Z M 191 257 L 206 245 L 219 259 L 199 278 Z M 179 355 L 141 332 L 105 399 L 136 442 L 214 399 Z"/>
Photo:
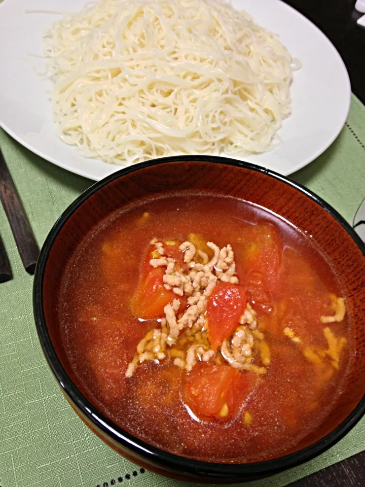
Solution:
<path fill-rule="evenodd" d="M 101 0 L 45 42 L 59 136 L 109 163 L 261 153 L 290 114 L 299 62 L 223 0 Z"/>

